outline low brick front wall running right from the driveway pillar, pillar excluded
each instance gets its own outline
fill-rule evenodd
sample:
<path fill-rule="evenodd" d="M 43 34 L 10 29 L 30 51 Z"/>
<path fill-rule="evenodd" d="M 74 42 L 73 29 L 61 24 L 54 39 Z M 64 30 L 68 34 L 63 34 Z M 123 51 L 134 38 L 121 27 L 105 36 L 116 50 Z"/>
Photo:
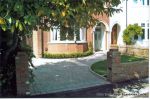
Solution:
<path fill-rule="evenodd" d="M 112 82 L 121 82 L 131 79 L 148 77 L 148 60 L 121 63 L 120 66 L 112 67 Z"/>

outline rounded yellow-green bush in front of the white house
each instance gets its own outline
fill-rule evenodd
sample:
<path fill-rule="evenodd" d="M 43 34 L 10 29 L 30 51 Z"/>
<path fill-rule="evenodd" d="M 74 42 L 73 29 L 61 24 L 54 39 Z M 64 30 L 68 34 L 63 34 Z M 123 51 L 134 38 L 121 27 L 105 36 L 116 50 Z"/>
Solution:
<path fill-rule="evenodd" d="M 129 25 L 124 31 L 123 31 L 123 41 L 128 44 L 134 44 L 136 40 L 138 39 L 138 36 L 141 36 L 143 34 L 142 28 L 138 26 L 138 24 Z"/>

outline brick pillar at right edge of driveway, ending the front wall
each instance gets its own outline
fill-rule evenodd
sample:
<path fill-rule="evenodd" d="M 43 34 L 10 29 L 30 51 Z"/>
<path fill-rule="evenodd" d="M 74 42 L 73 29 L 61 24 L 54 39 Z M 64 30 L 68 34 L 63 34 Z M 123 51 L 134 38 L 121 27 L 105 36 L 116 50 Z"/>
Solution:
<path fill-rule="evenodd" d="M 108 80 L 111 82 L 118 81 L 118 73 L 122 72 L 120 58 L 120 52 L 117 48 L 113 47 L 107 52 L 107 73 Z"/>

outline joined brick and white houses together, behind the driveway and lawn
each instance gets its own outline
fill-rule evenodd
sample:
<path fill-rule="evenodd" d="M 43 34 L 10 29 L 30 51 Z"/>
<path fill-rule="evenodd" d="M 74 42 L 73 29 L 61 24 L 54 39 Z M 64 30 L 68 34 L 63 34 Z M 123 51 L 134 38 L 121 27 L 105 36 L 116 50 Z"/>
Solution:
<path fill-rule="evenodd" d="M 36 57 L 42 53 L 51 54 L 85 52 L 91 43 L 93 51 L 108 51 L 111 45 L 117 45 L 120 52 L 128 49 L 123 42 L 123 31 L 129 24 L 137 23 L 143 28 L 143 36 L 138 41 L 130 54 L 146 55 L 149 52 L 149 23 L 150 23 L 150 0 L 121 0 L 118 8 L 122 12 L 113 16 L 97 15 L 99 22 L 91 28 L 65 28 L 53 27 L 50 31 L 33 31 L 33 51 Z M 67 29 L 67 33 L 62 33 Z M 130 48 L 131 49 L 131 48 Z"/>

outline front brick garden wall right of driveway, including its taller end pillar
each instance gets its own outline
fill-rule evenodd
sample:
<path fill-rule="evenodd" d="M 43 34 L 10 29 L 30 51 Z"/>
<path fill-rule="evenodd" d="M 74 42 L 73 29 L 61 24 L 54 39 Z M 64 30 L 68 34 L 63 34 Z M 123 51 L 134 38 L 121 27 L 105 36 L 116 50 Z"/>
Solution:
<path fill-rule="evenodd" d="M 117 49 L 107 53 L 108 80 L 112 83 L 148 77 L 148 70 L 148 60 L 121 63 Z"/>

